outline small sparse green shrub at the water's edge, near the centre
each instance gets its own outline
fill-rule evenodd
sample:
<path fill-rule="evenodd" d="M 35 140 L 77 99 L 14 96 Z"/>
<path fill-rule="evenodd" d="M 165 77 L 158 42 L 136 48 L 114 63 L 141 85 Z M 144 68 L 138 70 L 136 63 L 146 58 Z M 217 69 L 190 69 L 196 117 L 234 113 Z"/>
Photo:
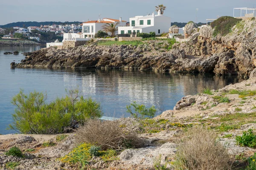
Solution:
<path fill-rule="evenodd" d="M 146 108 L 145 105 L 139 105 L 135 101 L 131 103 L 131 105 L 127 105 L 126 109 L 127 113 L 130 113 L 131 116 L 135 119 L 143 119 L 145 118 L 145 116 L 152 118 L 157 112 L 154 106 L 152 106 L 151 108 Z"/>

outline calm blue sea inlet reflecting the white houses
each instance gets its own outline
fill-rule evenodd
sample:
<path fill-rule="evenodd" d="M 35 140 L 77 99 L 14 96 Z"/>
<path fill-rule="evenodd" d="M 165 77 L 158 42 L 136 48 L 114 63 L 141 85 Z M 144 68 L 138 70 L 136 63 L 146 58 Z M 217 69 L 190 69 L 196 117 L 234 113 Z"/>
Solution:
<path fill-rule="evenodd" d="M 154 105 L 157 114 L 173 109 L 183 96 L 201 92 L 204 88 L 223 88 L 230 83 L 241 82 L 236 76 L 212 74 L 160 74 L 154 71 L 127 71 L 100 69 L 21 69 L 10 68 L 10 63 L 24 59 L 22 52 L 40 49 L 40 46 L 0 47 L 0 133 L 15 133 L 6 130 L 12 123 L 15 106 L 12 97 L 24 89 L 47 92 L 47 101 L 65 95 L 65 89 L 79 86 L 82 95 L 91 96 L 102 105 L 105 116 L 129 116 L 126 105 L 133 101 Z M 19 51 L 19 55 L 3 55 L 6 51 Z"/>

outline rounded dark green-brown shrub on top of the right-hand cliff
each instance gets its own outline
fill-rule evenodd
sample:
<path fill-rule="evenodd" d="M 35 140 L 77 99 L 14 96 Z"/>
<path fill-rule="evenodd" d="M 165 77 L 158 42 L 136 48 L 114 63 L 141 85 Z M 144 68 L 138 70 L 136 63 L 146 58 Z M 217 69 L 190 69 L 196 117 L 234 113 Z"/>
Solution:
<path fill-rule="evenodd" d="M 210 26 L 214 28 L 213 36 L 216 37 L 218 34 L 221 34 L 222 36 L 227 35 L 230 33 L 237 23 L 239 23 L 241 19 L 237 19 L 234 17 L 219 17 L 217 20 L 213 21 Z"/>

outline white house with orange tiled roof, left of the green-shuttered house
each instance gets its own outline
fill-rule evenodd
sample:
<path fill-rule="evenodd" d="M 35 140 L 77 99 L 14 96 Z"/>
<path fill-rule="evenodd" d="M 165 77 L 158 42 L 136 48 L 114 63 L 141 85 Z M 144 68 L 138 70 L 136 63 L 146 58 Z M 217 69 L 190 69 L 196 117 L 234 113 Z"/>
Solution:
<path fill-rule="evenodd" d="M 87 21 L 83 23 L 83 28 L 82 28 L 82 37 L 83 38 L 93 38 L 95 37 L 95 34 L 102 30 L 102 26 L 109 23 L 116 24 L 119 22 L 119 26 L 125 26 L 126 21 L 122 20 L 120 17 L 119 20 L 114 20 L 110 18 L 103 18 L 99 20 L 93 20 L 93 21 Z"/>

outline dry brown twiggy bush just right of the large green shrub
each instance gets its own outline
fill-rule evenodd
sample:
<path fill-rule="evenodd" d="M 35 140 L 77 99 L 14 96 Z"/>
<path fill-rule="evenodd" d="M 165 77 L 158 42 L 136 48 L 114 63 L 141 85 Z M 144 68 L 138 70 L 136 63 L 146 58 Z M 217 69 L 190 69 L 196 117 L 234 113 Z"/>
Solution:
<path fill-rule="evenodd" d="M 76 130 L 76 142 L 100 146 L 102 150 L 141 147 L 143 140 L 121 127 L 117 121 L 90 119 Z"/>

